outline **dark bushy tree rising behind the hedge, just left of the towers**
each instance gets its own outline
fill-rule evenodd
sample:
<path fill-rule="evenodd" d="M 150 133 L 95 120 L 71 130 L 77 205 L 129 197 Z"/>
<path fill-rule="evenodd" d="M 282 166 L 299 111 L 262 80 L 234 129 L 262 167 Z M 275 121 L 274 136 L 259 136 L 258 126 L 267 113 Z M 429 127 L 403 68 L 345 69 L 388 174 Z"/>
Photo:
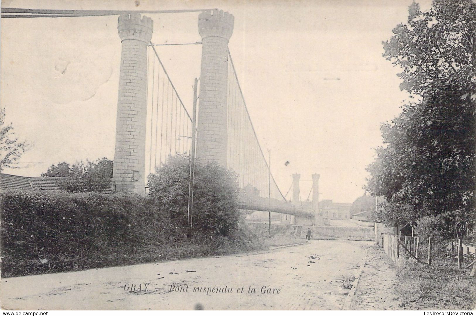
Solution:
<path fill-rule="evenodd" d="M 62 162 L 51 165 L 41 176 L 70 178 L 58 182 L 60 189 L 67 192 L 102 192 L 110 185 L 113 166 L 106 157 L 86 163 L 79 161 L 72 166 Z"/>

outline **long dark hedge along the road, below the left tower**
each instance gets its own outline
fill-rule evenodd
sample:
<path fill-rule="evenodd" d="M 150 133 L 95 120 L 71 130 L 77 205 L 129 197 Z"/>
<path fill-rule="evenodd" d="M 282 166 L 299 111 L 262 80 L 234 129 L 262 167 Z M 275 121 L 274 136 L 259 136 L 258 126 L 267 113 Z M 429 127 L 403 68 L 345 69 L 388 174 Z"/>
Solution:
<path fill-rule="evenodd" d="M 21 275 L 129 263 L 172 225 L 155 202 L 136 195 L 1 193 L 1 272 Z M 160 224 L 160 225 L 159 225 Z M 25 264 L 22 263 L 25 262 Z"/>

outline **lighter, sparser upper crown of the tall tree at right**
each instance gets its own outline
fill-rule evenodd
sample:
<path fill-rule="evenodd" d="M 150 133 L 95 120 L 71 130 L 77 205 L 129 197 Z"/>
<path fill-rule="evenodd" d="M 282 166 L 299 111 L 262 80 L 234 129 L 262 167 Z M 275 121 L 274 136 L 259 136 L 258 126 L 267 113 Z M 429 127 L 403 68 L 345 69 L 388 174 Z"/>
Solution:
<path fill-rule="evenodd" d="M 398 24 L 383 56 L 402 68 L 400 88 L 415 96 L 447 89 L 474 93 L 476 4 L 472 0 L 434 0 L 421 11 L 413 2 L 407 24 Z"/>

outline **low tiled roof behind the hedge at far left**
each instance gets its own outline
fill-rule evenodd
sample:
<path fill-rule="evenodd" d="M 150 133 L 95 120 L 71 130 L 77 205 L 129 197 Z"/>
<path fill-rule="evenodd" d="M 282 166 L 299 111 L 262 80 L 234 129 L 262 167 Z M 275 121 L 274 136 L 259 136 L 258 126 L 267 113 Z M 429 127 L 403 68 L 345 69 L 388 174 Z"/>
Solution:
<path fill-rule="evenodd" d="M 71 178 L 65 177 L 23 177 L 0 173 L 1 190 L 37 190 L 37 191 L 60 191 L 58 183 Z M 112 182 L 112 179 L 110 180 Z M 101 193 L 112 193 L 111 184 Z"/>

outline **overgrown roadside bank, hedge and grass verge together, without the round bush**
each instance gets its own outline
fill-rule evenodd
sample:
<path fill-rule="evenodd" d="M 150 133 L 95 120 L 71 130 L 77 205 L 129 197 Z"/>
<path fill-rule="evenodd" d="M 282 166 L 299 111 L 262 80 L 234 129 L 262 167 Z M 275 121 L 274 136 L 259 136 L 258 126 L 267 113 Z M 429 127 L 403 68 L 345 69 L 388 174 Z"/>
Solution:
<path fill-rule="evenodd" d="M 99 193 L 1 193 L 1 277 L 268 249 L 240 222 L 220 236 L 194 232 L 153 199 Z M 289 242 L 292 243 L 292 240 Z"/>

